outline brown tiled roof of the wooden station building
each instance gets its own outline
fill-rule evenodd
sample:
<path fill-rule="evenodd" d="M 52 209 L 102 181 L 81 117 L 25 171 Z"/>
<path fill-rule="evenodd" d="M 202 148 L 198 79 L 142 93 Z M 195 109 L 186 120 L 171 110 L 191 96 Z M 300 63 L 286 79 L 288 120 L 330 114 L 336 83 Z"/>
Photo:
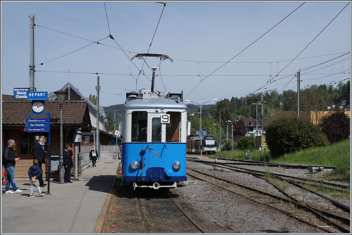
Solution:
<path fill-rule="evenodd" d="M 45 113 L 50 113 L 50 125 L 60 125 L 58 101 L 44 101 Z M 32 101 L 2 101 L 2 125 L 24 126 L 27 113 L 32 113 Z M 29 117 L 46 117 L 30 115 Z M 63 125 L 91 126 L 87 101 L 65 101 L 62 108 Z"/>

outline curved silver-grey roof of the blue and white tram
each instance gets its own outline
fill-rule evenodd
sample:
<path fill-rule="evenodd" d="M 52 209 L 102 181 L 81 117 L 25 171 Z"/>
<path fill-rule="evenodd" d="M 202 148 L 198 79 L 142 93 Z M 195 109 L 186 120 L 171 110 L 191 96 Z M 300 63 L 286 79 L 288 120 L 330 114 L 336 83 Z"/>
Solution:
<path fill-rule="evenodd" d="M 164 97 L 150 97 L 150 99 L 133 99 L 125 103 L 124 108 L 177 108 L 187 109 L 186 104 Z"/>

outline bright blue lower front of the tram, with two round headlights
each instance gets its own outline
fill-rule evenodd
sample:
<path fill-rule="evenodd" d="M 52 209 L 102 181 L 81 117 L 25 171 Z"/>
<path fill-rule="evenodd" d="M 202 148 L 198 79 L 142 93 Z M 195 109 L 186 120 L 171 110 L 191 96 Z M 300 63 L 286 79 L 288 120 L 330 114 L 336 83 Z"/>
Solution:
<path fill-rule="evenodd" d="M 142 150 L 145 151 L 144 155 L 141 154 Z M 141 157 L 145 158 L 143 169 Z M 133 170 L 131 163 L 135 161 L 139 167 Z M 176 161 L 181 165 L 178 170 L 172 167 Z M 186 181 L 186 143 L 124 143 L 122 144 L 122 174 L 123 181 Z"/>

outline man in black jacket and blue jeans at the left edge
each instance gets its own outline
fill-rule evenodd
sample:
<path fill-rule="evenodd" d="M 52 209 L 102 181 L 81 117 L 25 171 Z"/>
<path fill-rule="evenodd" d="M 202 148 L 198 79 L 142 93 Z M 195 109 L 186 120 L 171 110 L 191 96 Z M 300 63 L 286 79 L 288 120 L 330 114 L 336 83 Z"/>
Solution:
<path fill-rule="evenodd" d="M 14 140 L 8 140 L 7 146 L 4 151 L 2 151 L 2 165 L 4 165 L 5 171 L 7 172 L 7 183 L 5 185 L 5 193 L 20 193 L 23 190 L 19 190 L 15 182 L 15 164 L 20 160 L 20 158 L 15 158 L 12 147 L 15 145 Z M 10 190 L 10 182 L 13 188 L 12 192 Z"/>

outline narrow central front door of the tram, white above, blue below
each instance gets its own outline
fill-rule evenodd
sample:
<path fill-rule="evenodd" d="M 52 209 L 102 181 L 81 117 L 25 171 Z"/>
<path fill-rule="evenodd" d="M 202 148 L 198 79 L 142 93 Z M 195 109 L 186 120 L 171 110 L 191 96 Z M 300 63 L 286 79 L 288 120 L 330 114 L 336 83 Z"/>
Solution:
<path fill-rule="evenodd" d="M 149 166 L 163 167 L 165 147 L 165 124 L 162 124 L 161 115 L 149 116 Z"/>

